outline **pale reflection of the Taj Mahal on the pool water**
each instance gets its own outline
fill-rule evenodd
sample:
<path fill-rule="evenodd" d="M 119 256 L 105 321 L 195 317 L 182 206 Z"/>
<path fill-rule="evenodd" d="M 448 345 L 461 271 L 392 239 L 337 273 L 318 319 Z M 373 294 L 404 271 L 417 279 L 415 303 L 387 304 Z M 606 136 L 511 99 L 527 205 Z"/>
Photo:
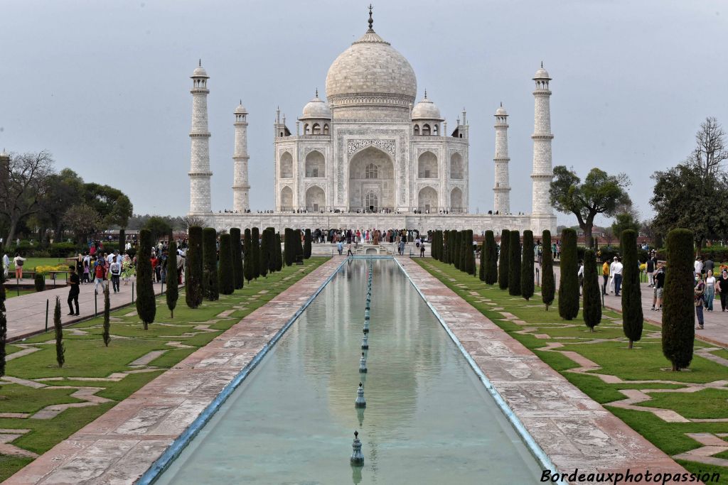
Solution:
<path fill-rule="evenodd" d="M 420 379 L 422 375 L 440 372 L 440 361 L 433 356 L 443 353 L 438 346 L 444 344 L 443 339 L 432 337 L 432 332 L 419 329 L 425 316 L 422 312 L 429 313 L 429 310 L 411 298 L 414 293 L 409 286 L 397 281 L 404 278 L 400 269 L 386 262 L 375 263 L 370 350 L 367 353 L 369 372 L 360 374 L 367 287 L 365 270 L 364 263 L 345 266 L 344 271 L 331 281 L 331 291 L 320 294 L 319 298 L 323 298 L 320 306 L 311 305 L 304 313 L 305 324 L 299 327 L 296 342 L 301 354 L 308 355 L 304 380 L 306 377 L 310 380 L 301 385 L 318 385 L 321 376 L 326 376 L 328 383 L 325 387 L 318 385 L 317 392 L 328 400 L 331 415 L 341 425 L 350 426 L 357 424 L 354 400 L 361 380 L 367 400 L 364 422 L 376 423 L 378 428 L 391 428 L 414 420 L 418 389 L 427 386 L 427 382 L 420 382 Z M 392 289 L 397 290 L 393 293 Z M 341 318 L 325 321 L 324 308 L 327 307 L 337 315 L 359 317 L 354 321 Z M 325 332 L 306 332 L 305 326 L 309 325 L 323 325 Z M 312 340 L 313 335 L 323 340 Z"/>

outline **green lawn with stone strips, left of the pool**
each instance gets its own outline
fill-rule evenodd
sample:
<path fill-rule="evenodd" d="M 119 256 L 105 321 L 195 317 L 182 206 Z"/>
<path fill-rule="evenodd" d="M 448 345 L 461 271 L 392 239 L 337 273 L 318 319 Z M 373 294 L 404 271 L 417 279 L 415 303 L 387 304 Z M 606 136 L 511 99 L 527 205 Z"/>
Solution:
<path fill-rule="evenodd" d="M 66 363 L 63 368 L 59 368 L 56 363 L 55 342 L 51 333 L 24 340 L 22 345 L 39 350 L 8 361 L 6 374 L 34 380 L 48 387 L 1 385 L 0 412 L 32 414 L 51 404 L 70 404 L 80 401 L 70 396 L 76 389 L 54 389 L 54 386 L 101 388 L 96 395 L 111 399 L 111 402 L 98 406 L 69 408 L 48 420 L 4 417 L 0 418 L 0 428 L 30 430 L 12 441 L 12 444 L 38 454 L 47 452 L 59 441 L 63 441 L 76 430 L 95 420 L 165 369 L 178 364 L 198 348 L 207 345 L 226 329 L 237 324 L 241 318 L 265 305 L 326 260 L 327 257 L 312 257 L 306 260 L 304 266 L 293 265 L 284 268 L 280 273 L 272 273 L 267 278 L 258 278 L 250 284 L 246 283 L 243 289 L 237 290 L 234 294 L 221 294 L 220 299 L 215 302 L 203 302 L 195 310 L 187 308 L 182 291 L 174 318 L 170 318 L 165 297 L 157 298 L 157 318 L 146 331 L 137 316 L 129 315 L 134 307 L 127 306 L 114 310 L 111 312 L 111 343 L 108 348 L 103 345 L 101 337 L 103 320 L 100 317 L 65 327 L 63 337 Z M 261 294 L 262 290 L 267 290 L 267 293 Z M 236 306 L 244 309 L 237 309 L 225 318 L 218 317 L 223 311 L 232 310 Z M 206 331 L 207 329 L 210 331 Z M 167 342 L 181 342 L 190 348 L 170 347 Z M 8 345 L 7 348 L 8 353 L 22 349 L 18 345 Z M 153 350 L 161 350 L 163 353 L 148 364 L 150 372 L 126 374 L 117 382 L 96 380 L 108 377 L 114 372 L 132 370 L 129 366 L 132 361 Z M 90 380 L 79 380 L 79 377 Z M 31 461 L 27 458 L 0 454 L 0 481 Z"/>

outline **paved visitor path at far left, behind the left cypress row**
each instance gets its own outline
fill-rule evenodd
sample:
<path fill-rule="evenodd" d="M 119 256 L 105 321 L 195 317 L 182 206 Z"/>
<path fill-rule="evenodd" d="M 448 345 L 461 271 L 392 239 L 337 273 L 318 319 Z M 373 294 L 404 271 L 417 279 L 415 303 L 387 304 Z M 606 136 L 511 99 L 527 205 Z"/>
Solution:
<path fill-rule="evenodd" d="M 133 280 L 132 280 L 133 281 Z M 124 285 L 123 281 L 119 286 L 119 293 L 110 294 L 111 309 L 127 305 L 132 301 L 132 281 Z M 165 285 L 165 288 L 167 286 Z M 154 284 L 154 293 L 159 294 L 162 285 Z M 136 285 L 134 288 L 136 294 Z M 84 318 L 92 317 L 94 314 L 94 285 L 82 284 L 79 294 L 80 316 L 67 316 L 68 288 L 47 289 L 44 292 L 22 294 L 19 297 L 12 297 L 5 300 L 7 309 L 7 338 L 9 341 L 28 337 L 29 335 L 42 332 L 46 324 L 46 301 L 48 302 L 48 327 L 53 328 L 53 309 L 55 297 L 60 297 L 60 313 L 63 325 L 72 324 Z M 99 286 L 98 312 L 103 312 L 103 292 Z"/>

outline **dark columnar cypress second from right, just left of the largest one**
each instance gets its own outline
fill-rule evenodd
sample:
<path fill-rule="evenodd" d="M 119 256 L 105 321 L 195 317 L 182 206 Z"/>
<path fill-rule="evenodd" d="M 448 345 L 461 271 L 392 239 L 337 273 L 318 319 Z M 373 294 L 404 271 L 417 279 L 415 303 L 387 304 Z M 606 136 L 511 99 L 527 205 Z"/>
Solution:
<path fill-rule="evenodd" d="M 642 290 L 639 286 L 639 260 L 637 258 L 637 233 L 632 229 L 622 231 L 622 330 L 633 342 L 642 338 Z M 664 290 L 663 290 L 664 291 Z"/>

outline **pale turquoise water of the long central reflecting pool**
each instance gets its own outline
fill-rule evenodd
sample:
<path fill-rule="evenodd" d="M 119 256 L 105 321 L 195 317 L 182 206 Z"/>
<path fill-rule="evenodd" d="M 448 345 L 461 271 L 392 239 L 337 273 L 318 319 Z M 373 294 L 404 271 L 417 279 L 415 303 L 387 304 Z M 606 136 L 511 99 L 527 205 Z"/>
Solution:
<path fill-rule="evenodd" d="M 393 260 L 347 262 L 161 484 L 531 484 L 540 466 Z M 367 407 L 355 409 L 359 382 Z M 354 430 L 363 468 L 352 468 Z"/>

